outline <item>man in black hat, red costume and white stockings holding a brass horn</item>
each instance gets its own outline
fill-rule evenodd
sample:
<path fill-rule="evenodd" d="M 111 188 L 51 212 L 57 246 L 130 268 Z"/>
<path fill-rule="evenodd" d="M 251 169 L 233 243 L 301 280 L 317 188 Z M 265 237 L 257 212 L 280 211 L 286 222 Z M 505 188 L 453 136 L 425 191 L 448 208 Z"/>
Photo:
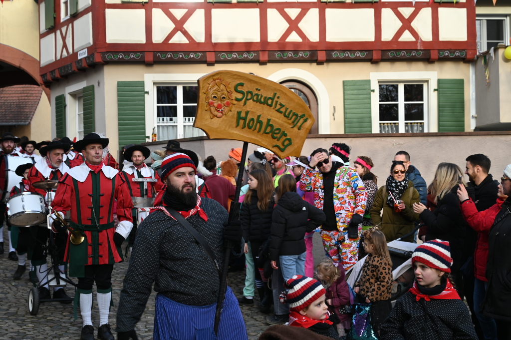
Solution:
<path fill-rule="evenodd" d="M 64 216 L 65 212 L 71 211 L 69 226 L 81 231 L 85 237 L 80 244 L 71 243 L 68 237 L 65 252 L 69 276 L 78 278 L 75 306 L 80 306 L 83 320 L 82 340 L 94 339 L 90 318 L 94 282 L 100 313 L 98 337 L 102 340 L 114 339 L 108 324 L 112 269 L 114 263 L 123 260 L 121 244 L 133 226 L 133 203 L 128 185 L 119 171 L 102 161 L 103 149 L 107 145 L 108 139 L 101 138 L 97 133 L 89 133 L 83 140 L 74 143 L 75 150 L 81 151 L 85 162 L 69 169 L 62 177 L 52 202 L 52 228 L 65 233 L 65 227 L 55 221 L 54 214 Z M 114 200 L 117 200 L 119 218 L 117 228 L 113 223 Z"/>

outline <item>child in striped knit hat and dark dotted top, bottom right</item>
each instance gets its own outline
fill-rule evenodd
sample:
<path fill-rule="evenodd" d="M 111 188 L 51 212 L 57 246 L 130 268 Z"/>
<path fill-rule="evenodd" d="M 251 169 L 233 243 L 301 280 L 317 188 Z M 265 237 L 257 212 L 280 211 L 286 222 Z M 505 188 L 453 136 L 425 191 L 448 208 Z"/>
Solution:
<path fill-rule="evenodd" d="M 381 327 L 385 340 L 477 340 L 467 306 L 450 276 L 449 242 L 432 240 L 412 255 L 415 282 L 392 309 Z"/>

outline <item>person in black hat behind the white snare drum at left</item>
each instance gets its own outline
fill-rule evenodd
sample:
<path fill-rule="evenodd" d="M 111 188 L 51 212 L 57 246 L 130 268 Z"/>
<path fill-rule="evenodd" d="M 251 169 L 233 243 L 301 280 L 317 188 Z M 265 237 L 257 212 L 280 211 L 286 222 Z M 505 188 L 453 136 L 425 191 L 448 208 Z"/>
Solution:
<path fill-rule="evenodd" d="M 11 190 L 11 194 L 9 197 L 12 197 L 14 195 L 20 194 L 22 192 L 30 191 L 30 185 L 28 181 L 28 175 L 29 170 L 34 165 L 32 163 L 27 164 L 21 164 L 16 168 L 16 175 L 22 177 L 21 182 L 14 186 Z M 27 240 L 26 240 L 26 234 L 21 232 L 21 229 L 27 229 L 27 228 L 18 228 L 15 225 L 11 226 L 11 241 L 12 241 L 12 247 L 16 250 L 16 253 L 18 255 L 18 267 L 16 268 L 16 271 L 14 272 L 14 280 L 21 279 L 21 276 L 25 273 L 27 270 L 25 263 L 27 258 Z M 30 260 L 29 260 L 29 266 L 31 267 Z M 29 276 L 31 278 L 32 275 Z"/>

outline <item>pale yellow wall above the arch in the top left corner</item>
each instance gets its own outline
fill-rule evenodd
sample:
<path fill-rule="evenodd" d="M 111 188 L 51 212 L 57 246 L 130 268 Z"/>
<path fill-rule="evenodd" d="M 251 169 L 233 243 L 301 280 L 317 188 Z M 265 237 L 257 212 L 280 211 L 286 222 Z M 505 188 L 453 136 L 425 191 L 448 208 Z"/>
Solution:
<path fill-rule="evenodd" d="M 34 1 L 4 1 L 0 6 L 0 44 L 39 60 L 39 7 Z"/>

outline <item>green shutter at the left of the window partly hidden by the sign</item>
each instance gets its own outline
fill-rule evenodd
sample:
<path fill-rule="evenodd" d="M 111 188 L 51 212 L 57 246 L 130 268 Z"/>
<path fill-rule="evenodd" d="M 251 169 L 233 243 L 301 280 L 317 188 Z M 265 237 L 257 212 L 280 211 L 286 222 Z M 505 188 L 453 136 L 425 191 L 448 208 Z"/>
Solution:
<path fill-rule="evenodd" d="M 117 82 L 119 147 L 146 141 L 146 104 L 143 81 Z"/>

